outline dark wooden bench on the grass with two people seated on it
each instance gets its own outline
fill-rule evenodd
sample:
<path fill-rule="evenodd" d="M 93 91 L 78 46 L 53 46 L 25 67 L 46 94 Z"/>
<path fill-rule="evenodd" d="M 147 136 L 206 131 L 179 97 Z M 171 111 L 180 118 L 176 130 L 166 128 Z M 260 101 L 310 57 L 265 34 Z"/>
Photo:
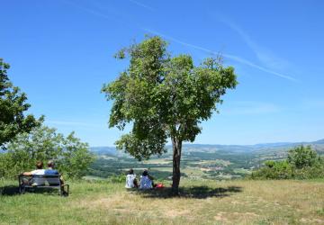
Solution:
<path fill-rule="evenodd" d="M 19 193 L 25 193 L 27 189 L 52 188 L 58 189 L 59 195 L 63 196 L 69 191 L 69 184 L 62 184 L 60 175 L 19 175 Z M 67 187 L 67 192 L 64 192 Z"/>

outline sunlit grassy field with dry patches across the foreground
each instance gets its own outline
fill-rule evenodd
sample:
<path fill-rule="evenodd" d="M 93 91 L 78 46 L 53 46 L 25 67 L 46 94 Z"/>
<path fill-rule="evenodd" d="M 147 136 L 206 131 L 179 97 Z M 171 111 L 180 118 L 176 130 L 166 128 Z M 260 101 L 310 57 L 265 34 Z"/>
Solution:
<path fill-rule="evenodd" d="M 106 181 L 71 184 L 69 197 L 16 192 L 0 180 L 1 224 L 323 224 L 324 181 L 182 180 L 169 189 L 126 191 Z M 168 185 L 168 184 L 167 184 Z"/>

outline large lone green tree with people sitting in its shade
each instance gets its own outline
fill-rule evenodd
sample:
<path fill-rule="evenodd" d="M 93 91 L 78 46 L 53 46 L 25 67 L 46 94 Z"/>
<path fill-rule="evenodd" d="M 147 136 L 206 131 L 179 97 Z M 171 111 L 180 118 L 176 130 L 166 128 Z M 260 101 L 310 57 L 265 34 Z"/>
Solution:
<path fill-rule="evenodd" d="M 183 141 L 193 141 L 199 124 L 211 118 L 220 97 L 237 85 L 233 67 L 223 67 L 220 58 L 206 58 L 194 66 L 189 55 L 171 57 L 160 37 L 147 37 L 121 49 L 116 58 L 130 58 L 129 67 L 110 84 L 103 85 L 107 100 L 113 100 L 109 126 L 130 133 L 121 136 L 117 148 L 133 157 L 148 158 L 173 147 L 173 193 L 178 193 Z"/>

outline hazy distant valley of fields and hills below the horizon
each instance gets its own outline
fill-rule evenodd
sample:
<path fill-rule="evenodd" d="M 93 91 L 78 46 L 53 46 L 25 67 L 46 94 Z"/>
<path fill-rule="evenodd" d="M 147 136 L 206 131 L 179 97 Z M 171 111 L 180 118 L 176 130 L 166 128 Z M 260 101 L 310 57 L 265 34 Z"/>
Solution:
<path fill-rule="evenodd" d="M 181 158 L 181 173 L 192 179 L 224 180 L 243 178 L 266 160 L 278 160 L 287 157 L 287 151 L 300 144 L 311 144 L 319 154 L 324 153 L 323 140 L 310 143 L 277 143 L 255 146 L 221 145 L 184 145 Z M 149 160 L 136 159 L 115 148 L 93 148 L 97 160 L 91 166 L 88 175 L 107 178 L 125 174 L 134 168 L 139 175 L 143 169 L 151 171 L 157 179 L 169 179 L 172 175 L 172 151 L 168 147 L 166 154 Z"/>

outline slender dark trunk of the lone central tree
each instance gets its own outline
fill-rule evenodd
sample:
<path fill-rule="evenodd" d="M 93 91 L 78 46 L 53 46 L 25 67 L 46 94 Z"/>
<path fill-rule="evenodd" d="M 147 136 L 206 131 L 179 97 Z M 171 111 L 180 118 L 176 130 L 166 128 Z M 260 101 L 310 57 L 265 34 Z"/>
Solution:
<path fill-rule="evenodd" d="M 181 160 L 182 141 L 179 139 L 176 139 L 175 137 L 173 137 L 171 139 L 172 139 L 172 148 L 173 148 L 172 193 L 175 195 L 179 195 L 180 160 Z"/>

